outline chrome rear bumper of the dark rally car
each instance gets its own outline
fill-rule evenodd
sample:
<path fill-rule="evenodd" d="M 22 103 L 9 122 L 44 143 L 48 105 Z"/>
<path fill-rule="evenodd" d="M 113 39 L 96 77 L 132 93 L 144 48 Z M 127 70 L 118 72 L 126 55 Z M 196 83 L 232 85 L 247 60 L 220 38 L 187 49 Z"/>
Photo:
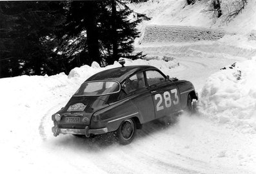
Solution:
<path fill-rule="evenodd" d="M 108 128 L 89 129 L 88 126 L 85 126 L 84 129 L 76 129 L 76 128 L 59 128 L 58 126 L 53 126 L 52 132 L 54 133 L 55 137 L 57 137 L 57 135 L 59 134 L 79 134 L 79 135 L 85 135 L 86 137 L 90 137 L 90 134 L 94 134 L 94 135 L 105 134 L 108 132 Z"/>

